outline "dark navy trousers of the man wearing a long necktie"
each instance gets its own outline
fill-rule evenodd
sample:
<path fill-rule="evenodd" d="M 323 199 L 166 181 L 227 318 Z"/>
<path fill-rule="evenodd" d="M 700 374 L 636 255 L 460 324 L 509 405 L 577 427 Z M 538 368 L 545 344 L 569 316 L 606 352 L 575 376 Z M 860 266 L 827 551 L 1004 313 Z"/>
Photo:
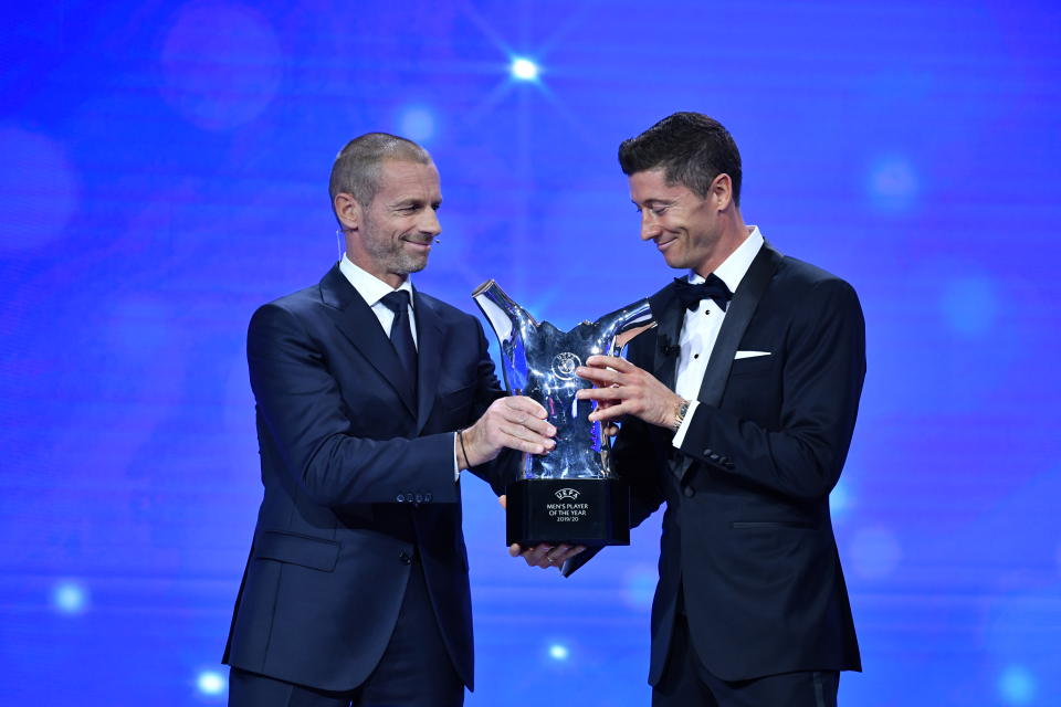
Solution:
<path fill-rule="evenodd" d="M 419 558 L 409 573 L 395 633 L 368 679 L 349 692 L 229 672 L 229 707 L 460 707 L 464 684 L 445 648 Z"/>

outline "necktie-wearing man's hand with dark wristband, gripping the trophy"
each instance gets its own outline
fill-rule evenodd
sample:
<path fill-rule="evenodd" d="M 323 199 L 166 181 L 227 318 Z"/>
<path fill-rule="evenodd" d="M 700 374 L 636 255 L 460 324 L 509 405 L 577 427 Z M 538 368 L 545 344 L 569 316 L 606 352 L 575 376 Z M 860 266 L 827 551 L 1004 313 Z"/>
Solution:
<path fill-rule="evenodd" d="M 505 447 L 545 454 L 556 446 L 556 428 L 546 422 L 545 408 L 523 395 L 498 398 L 463 434 L 464 449 L 456 445 L 461 468 L 489 462 Z"/>

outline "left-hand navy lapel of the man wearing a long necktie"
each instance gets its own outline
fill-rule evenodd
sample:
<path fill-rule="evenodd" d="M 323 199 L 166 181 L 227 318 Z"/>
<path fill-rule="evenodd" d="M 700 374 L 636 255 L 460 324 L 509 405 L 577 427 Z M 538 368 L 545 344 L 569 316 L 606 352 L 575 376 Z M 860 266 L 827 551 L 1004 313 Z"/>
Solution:
<path fill-rule="evenodd" d="M 409 414 L 416 415 L 409 399 L 406 372 L 398 362 L 395 347 L 379 326 L 379 319 L 368 303 L 357 294 L 354 285 L 343 276 L 338 266 L 333 267 L 321 281 L 321 298 L 330 306 L 336 328 L 379 371 L 395 389 Z"/>

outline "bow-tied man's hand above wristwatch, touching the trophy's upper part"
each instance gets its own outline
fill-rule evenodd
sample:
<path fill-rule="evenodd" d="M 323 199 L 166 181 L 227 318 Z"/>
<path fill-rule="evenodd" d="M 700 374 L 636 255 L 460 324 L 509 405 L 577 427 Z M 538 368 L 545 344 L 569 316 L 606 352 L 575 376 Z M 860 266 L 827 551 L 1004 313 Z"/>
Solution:
<path fill-rule="evenodd" d="M 673 429 L 674 412 L 682 398 L 627 359 L 590 356 L 586 366 L 579 366 L 575 372 L 595 386 L 575 393 L 579 400 L 597 401 L 597 410 L 589 415 L 590 422 L 629 414 L 650 424 Z"/>

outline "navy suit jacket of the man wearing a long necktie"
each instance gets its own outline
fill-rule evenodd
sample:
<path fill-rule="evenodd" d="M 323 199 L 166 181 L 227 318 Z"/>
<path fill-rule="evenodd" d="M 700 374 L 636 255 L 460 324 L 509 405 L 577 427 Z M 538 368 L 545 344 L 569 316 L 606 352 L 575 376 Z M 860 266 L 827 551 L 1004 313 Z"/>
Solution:
<path fill-rule="evenodd" d="M 473 687 L 453 432 L 503 392 L 477 319 L 419 291 L 413 309 L 416 402 L 379 320 L 338 266 L 252 317 L 264 497 L 227 664 L 356 687 L 387 647 L 419 561 L 456 672 Z M 472 471 L 500 494 L 500 468 Z"/>

